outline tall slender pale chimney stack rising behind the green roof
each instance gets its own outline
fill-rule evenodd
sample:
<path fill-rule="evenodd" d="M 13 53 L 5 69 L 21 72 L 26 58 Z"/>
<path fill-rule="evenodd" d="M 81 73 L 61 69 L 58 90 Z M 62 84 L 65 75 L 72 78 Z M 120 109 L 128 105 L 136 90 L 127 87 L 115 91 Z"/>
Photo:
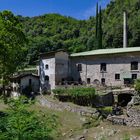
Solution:
<path fill-rule="evenodd" d="M 127 13 L 123 13 L 123 48 L 127 47 Z"/>

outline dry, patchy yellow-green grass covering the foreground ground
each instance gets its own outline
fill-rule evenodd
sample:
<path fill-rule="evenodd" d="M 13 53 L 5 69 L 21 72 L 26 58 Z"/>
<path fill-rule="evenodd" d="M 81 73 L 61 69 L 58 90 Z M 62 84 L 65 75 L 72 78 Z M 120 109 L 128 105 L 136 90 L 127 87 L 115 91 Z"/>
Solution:
<path fill-rule="evenodd" d="M 75 106 L 73 104 L 70 105 Z M 6 108 L 7 106 L 3 104 L 2 100 L 0 100 L 0 111 L 4 111 Z M 112 125 L 106 120 L 98 123 L 98 121 L 96 122 L 96 119 L 90 120 L 90 118 L 85 118 L 76 113 L 68 111 L 55 111 L 48 109 L 47 107 L 42 107 L 38 102 L 33 104 L 29 109 L 36 111 L 43 120 L 49 115 L 53 115 L 57 118 L 58 131 L 53 132 L 54 140 L 74 139 L 79 135 L 83 135 L 85 130 L 87 130 L 86 140 L 93 140 L 98 136 L 101 136 L 100 138 L 102 140 L 129 140 L 129 137 L 132 135 L 140 137 L 140 128 Z M 104 109 L 110 111 L 110 107 Z M 83 127 L 83 124 L 88 122 L 88 120 L 91 122 L 89 123 L 89 126 Z M 111 131 L 113 131 L 113 135 L 109 135 Z"/>

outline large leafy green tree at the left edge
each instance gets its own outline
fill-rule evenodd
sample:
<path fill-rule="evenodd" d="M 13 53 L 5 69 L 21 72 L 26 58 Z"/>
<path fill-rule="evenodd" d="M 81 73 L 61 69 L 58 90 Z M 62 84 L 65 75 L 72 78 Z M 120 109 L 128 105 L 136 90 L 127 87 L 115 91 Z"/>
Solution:
<path fill-rule="evenodd" d="M 3 79 L 3 86 L 21 65 L 25 43 L 26 38 L 17 17 L 10 11 L 0 12 L 0 78 Z"/>

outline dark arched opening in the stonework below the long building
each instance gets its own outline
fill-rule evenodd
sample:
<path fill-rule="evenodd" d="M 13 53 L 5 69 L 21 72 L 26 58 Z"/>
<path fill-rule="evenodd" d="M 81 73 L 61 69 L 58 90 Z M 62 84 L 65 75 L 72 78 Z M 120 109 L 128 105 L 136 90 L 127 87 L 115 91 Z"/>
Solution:
<path fill-rule="evenodd" d="M 127 106 L 127 104 L 131 101 L 132 96 L 134 96 L 134 95 L 133 94 L 127 94 L 127 93 L 119 94 L 118 95 L 118 103 L 122 107 Z"/>

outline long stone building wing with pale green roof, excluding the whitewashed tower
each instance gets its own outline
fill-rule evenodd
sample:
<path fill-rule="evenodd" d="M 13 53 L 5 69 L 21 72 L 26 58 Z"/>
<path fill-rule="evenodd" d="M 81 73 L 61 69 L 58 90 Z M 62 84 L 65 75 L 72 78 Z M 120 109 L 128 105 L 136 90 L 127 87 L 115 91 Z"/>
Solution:
<path fill-rule="evenodd" d="M 140 47 L 94 50 L 70 58 L 74 79 L 88 84 L 121 86 L 140 78 Z"/>

